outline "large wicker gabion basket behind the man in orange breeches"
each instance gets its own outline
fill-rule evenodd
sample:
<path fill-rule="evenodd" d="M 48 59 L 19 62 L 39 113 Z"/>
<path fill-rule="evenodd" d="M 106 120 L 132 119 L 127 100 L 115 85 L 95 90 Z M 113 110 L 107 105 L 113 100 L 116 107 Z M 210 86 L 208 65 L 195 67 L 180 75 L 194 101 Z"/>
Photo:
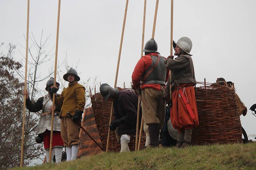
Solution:
<path fill-rule="evenodd" d="M 235 89 L 205 83 L 195 88 L 195 94 L 199 125 L 193 130 L 191 142 L 199 145 L 242 143 Z"/>

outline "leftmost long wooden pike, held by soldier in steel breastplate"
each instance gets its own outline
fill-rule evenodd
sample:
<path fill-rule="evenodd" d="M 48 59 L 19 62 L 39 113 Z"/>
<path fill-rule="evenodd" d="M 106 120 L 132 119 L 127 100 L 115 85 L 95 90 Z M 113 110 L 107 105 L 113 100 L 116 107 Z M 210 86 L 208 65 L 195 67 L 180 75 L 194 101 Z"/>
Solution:
<path fill-rule="evenodd" d="M 25 82 L 24 90 L 27 90 L 27 68 L 28 68 L 28 28 L 29 28 L 29 0 L 27 11 L 27 39 L 26 39 L 26 64 L 25 64 Z M 24 133 L 25 133 L 25 117 L 26 117 L 26 95 L 23 96 L 23 120 L 22 120 L 22 135 L 21 135 L 21 154 L 20 154 L 20 166 L 23 166 L 23 152 L 24 152 Z"/>

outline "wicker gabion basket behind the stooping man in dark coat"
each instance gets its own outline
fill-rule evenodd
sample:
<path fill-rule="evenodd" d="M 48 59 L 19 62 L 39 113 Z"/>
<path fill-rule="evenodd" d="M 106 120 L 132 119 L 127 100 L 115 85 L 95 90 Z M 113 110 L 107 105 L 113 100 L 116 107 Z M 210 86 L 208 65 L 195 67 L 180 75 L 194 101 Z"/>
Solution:
<path fill-rule="evenodd" d="M 120 90 L 124 90 L 124 89 L 118 88 L 118 90 L 120 91 Z M 125 90 L 131 90 L 131 89 L 125 89 Z M 92 101 L 92 108 L 94 111 L 95 122 L 97 124 L 97 128 L 99 131 L 102 147 L 104 150 L 106 150 L 107 139 L 108 139 L 109 118 L 110 118 L 112 103 L 105 102 L 100 93 L 96 93 L 96 94 L 92 95 L 91 101 Z M 114 119 L 115 119 L 115 117 L 113 115 L 112 120 L 114 120 Z M 145 142 L 146 142 L 146 135 L 145 135 L 145 133 L 143 133 L 142 138 L 141 138 L 140 149 L 143 149 Z M 128 145 L 129 145 L 130 151 L 135 150 L 135 136 L 131 137 L 131 140 L 128 143 Z M 110 131 L 108 148 L 109 148 L 110 152 L 111 151 L 112 152 L 120 152 L 121 145 L 116 140 L 115 131 Z"/>

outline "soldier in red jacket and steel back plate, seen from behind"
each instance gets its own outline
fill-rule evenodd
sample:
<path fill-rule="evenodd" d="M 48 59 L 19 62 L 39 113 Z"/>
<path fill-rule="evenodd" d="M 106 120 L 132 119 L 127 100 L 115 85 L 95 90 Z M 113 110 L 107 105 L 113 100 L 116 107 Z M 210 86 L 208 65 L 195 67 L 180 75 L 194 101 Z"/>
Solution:
<path fill-rule="evenodd" d="M 164 124 L 166 102 L 163 99 L 165 83 L 169 78 L 169 69 L 164 66 L 165 58 L 157 51 L 154 39 L 148 40 L 132 73 L 133 88 L 141 90 L 141 96 L 149 109 L 142 102 L 142 115 L 148 125 L 150 146 L 158 147 L 159 133 Z"/>

